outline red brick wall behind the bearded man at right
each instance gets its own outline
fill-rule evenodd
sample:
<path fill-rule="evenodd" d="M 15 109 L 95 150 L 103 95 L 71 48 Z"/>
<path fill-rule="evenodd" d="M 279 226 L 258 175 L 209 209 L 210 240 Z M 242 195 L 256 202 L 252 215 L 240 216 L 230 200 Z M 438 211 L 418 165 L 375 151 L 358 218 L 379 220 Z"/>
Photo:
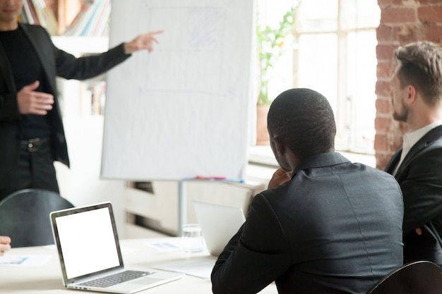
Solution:
<path fill-rule="evenodd" d="M 364 0 L 365 1 L 365 0 Z M 419 40 L 442 44 L 442 0 L 378 0 L 381 23 L 377 30 L 376 166 L 384 169 L 402 145 L 407 126 L 392 118 L 390 79 L 395 70 L 393 51 Z"/>

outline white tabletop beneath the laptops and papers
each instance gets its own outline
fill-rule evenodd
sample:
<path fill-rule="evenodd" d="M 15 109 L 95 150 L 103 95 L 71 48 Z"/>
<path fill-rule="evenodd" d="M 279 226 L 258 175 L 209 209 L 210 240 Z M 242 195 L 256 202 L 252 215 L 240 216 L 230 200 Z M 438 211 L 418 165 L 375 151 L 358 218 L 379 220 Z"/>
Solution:
<path fill-rule="evenodd" d="M 179 242 L 179 238 L 144 238 L 121 240 L 121 252 L 124 265 L 130 269 L 154 270 L 156 266 L 170 262 L 186 261 L 189 259 L 210 258 L 215 263 L 216 258 L 208 252 L 186 253 L 181 250 L 162 252 L 151 247 L 150 243 Z M 83 290 L 68 290 L 61 281 L 61 269 L 56 248 L 52 246 L 20 247 L 7 252 L 8 256 L 44 257 L 43 264 L 35 266 L 6 266 L 0 264 L 0 293 L 93 293 Z M 212 284 L 208 278 L 198 278 L 186 275 L 177 281 L 143 290 L 138 293 L 212 293 Z M 261 293 L 277 293 L 275 283 L 263 289 Z"/>

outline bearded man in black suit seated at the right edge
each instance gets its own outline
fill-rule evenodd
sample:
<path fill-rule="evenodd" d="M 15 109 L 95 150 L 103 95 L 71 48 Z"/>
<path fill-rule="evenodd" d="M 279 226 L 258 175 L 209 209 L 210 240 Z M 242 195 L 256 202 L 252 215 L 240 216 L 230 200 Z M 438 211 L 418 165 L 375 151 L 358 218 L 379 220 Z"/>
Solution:
<path fill-rule="evenodd" d="M 404 197 L 404 262 L 442 266 L 442 48 L 416 42 L 395 50 L 393 118 L 408 133 L 386 171 Z"/>

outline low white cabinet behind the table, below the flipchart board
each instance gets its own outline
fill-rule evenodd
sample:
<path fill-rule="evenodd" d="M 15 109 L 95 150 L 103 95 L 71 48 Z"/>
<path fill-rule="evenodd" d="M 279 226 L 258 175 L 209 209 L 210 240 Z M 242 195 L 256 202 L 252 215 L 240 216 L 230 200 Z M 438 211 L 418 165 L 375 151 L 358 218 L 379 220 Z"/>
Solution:
<path fill-rule="evenodd" d="M 186 194 L 186 223 L 196 223 L 193 201 L 208 202 L 232 207 L 240 207 L 249 212 L 252 197 L 265 189 L 263 183 L 232 183 L 205 180 L 189 180 L 184 184 Z M 125 231 L 127 238 L 136 238 L 133 233 L 150 233 L 151 230 L 177 235 L 179 224 L 179 182 L 159 180 L 152 182 L 152 190 L 143 191 L 128 183 L 124 192 L 124 207 L 127 215 Z"/>

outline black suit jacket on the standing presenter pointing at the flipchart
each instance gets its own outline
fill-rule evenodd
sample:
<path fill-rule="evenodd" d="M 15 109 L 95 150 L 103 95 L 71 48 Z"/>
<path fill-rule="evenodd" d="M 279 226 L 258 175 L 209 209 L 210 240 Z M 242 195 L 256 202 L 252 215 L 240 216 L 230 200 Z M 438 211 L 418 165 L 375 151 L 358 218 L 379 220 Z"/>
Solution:
<path fill-rule="evenodd" d="M 126 60 L 123 44 L 98 56 L 77 59 L 75 56 L 57 49 L 52 44 L 46 30 L 39 25 L 19 24 L 28 37 L 32 47 L 42 63 L 50 94 L 56 100 L 56 76 L 66 79 L 85 80 L 104 73 Z M 18 112 L 17 92 L 11 66 L 6 52 L 0 44 L 0 190 L 8 183 L 8 175 L 16 170 L 18 162 L 18 144 L 21 135 L 21 116 Z M 61 161 L 69 166 L 66 138 L 59 102 L 47 114 L 52 125 L 52 152 L 54 161 Z"/>

